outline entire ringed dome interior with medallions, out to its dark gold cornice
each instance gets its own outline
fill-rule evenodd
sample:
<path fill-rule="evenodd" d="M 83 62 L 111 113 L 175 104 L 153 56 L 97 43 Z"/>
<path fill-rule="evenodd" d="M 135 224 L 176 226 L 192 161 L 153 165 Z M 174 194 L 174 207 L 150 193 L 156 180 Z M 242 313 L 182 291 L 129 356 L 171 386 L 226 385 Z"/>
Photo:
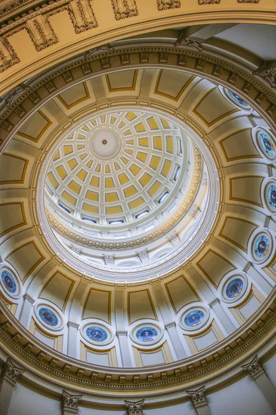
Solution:
<path fill-rule="evenodd" d="M 53 68 L 8 110 L 1 296 L 43 376 L 175 393 L 271 330 L 273 94 L 222 58 L 120 47 Z"/>

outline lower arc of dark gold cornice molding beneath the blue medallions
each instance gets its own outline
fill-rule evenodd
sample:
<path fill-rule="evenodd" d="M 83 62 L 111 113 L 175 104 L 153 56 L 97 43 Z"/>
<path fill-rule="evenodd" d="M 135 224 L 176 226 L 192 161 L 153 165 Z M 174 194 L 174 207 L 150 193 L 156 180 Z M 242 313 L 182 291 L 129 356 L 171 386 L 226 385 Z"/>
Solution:
<path fill-rule="evenodd" d="M 259 353 L 259 349 L 262 349 L 265 344 L 269 344 L 275 338 L 276 313 L 273 311 L 273 308 L 276 307 L 275 291 L 276 288 L 273 289 L 257 313 L 233 335 L 195 356 L 150 367 L 150 369 L 144 367 L 130 369 L 105 367 L 103 370 L 99 370 L 99 367 L 93 367 L 86 362 L 69 358 L 46 347 L 45 344 L 34 338 L 19 324 L 3 302 L 0 302 L 2 349 L 8 356 L 12 354 L 14 360 L 15 356 L 18 356 L 20 364 L 25 370 L 41 377 L 43 381 L 55 382 L 63 389 L 68 385 L 72 389 L 81 387 L 83 393 L 92 393 L 98 396 L 108 396 L 110 391 L 117 391 L 118 397 L 121 394 L 124 396 L 126 391 L 136 391 L 135 393 L 137 393 L 137 390 L 143 394 L 146 391 L 148 396 L 159 396 L 160 389 L 162 389 L 163 394 L 170 396 L 173 394 L 171 387 L 175 389 L 176 385 L 178 391 L 179 387 L 183 391 L 187 390 L 187 387 L 188 390 L 195 389 L 196 385 L 200 385 L 204 379 L 204 385 L 207 387 L 209 382 L 221 378 L 221 375 L 225 376 L 229 371 L 232 372 L 235 368 L 240 368 L 244 361 L 248 361 L 248 356 L 255 356 L 256 353 Z M 8 326 L 7 322 L 9 322 Z M 22 336 L 17 342 L 12 340 L 11 333 L 14 330 Z M 23 347 L 26 340 L 28 341 L 27 345 Z M 28 347 L 28 344 L 31 344 L 32 347 Z M 38 358 L 41 357 L 41 353 L 43 353 L 43 359 Z M 83 369 L 82 376 L 78 376 L 80 367 Z M 172 372 L 174 375 L 171 374 Z M 155 374 L 154 381 L 144 380 L 152 374 Z M 124 377 L 124 382 L 115 380 L 121 376 Z"/>

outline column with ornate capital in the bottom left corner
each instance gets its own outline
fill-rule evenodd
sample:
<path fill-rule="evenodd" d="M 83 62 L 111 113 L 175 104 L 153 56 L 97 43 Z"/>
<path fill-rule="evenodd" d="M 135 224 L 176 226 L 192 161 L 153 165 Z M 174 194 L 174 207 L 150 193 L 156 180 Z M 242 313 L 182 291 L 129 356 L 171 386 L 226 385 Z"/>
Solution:
<path fill-rule="evenodd" d="M 8 359 L 3 367 L 0 381 L 0 407 L 1 415 L 8 414 L 10 406 L 10 399 L 12 398 L 12 391 L 17 384 L 17 379 L 23 374 L 23 369 L 20 369 L 12 360 Z"/>

